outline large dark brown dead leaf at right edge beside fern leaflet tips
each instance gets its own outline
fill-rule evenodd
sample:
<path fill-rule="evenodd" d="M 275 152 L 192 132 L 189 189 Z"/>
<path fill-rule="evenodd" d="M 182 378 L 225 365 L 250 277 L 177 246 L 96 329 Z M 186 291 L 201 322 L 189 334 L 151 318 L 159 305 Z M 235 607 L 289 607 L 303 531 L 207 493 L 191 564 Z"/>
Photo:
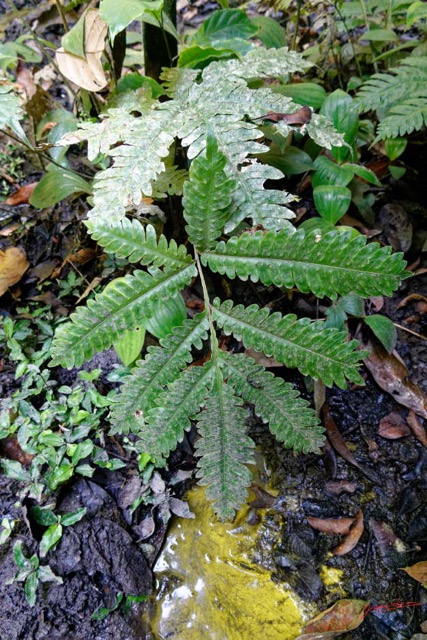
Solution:
<path fill-rule="evenodd" d="M 409 371 L 399 362 L 394 354 L 389 354 L 380 345 L 368 342 L 363 345 L 370 355 L 365 365 L 371 372 L 375 382 L 387 391 L 404 407 L 415 411 L 422 418 L 427 418 L 427 397 L 423 391 L 409 379 Z"/>

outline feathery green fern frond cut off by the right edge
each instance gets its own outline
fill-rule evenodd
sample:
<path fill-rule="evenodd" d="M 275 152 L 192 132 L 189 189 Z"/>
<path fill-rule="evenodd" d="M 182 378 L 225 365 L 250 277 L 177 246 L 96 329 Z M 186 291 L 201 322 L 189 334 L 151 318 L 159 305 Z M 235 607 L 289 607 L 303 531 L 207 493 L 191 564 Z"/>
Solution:
<path fill-rule="evenodd" d="M 427 56 L 407 57 L 387 73 L 374 74 L 356 103 L 360 111 L 380 113 L 377 141 L 419 131 L 427 125 Z"/>

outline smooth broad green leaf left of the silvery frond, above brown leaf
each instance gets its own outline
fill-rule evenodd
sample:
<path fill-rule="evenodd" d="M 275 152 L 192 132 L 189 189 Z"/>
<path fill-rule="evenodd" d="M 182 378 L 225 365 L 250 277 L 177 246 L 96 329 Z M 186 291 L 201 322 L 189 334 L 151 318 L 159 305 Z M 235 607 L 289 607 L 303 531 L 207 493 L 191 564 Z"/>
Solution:
<path fill-rule="evenodd" d="M 92 193 L 92 187 L 83 178 L 67 169 L 51 169 L 34 189 L 30 204 L 37 209 L 51 207 L 68 196 L 79 193 Z"/>

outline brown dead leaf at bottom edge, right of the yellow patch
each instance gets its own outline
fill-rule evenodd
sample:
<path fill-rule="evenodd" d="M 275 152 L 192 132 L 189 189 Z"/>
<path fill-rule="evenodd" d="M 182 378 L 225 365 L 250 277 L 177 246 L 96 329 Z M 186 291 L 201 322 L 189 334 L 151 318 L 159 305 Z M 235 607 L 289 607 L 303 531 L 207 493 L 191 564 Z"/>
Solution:
<path fill-rule="evenodd" d="M 353 631 L 362 624 L 367 605 L 365 600 L 338 600 L 332 607 L 310 620 L 297 640 L 336 638 L 347 631 Z"/>

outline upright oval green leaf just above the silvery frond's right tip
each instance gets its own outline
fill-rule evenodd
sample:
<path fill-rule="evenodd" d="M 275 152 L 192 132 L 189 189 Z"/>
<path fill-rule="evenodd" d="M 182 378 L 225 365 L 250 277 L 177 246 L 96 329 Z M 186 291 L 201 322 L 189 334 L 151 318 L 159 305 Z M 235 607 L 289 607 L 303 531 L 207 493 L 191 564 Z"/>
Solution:
<path fill-rule="evenodd" d="M 345 91 L 336 89 L 326 98 L 320 113 L 333 123 L 339 133 L 344 134 L 345 142 L 351 147 L 359 130 L 359 115 L 353 98 Z M 345 146 L 331 149 L 331 154 L 337 162 L 343 162 L 349 153 L 350 149 Z"/>

